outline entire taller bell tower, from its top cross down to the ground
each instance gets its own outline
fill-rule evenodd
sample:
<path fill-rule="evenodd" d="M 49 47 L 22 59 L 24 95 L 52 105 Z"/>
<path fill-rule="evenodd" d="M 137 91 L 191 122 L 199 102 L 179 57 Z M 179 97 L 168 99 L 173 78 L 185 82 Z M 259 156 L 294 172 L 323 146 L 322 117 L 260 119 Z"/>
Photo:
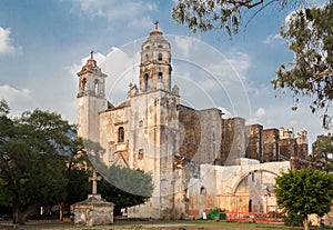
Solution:
<path fill-rule="evenodd" d="M 174 156 L 179 151 L 180 94 L 171 82 L 171 46 L 158 21 L 141 47 L 139 87 L 129 93 L 129 158 L 133 168 L 152 172 L 154 191 L 145 204 L 129 209 L 133 218 L 171 219 L 176 199 Z"/>

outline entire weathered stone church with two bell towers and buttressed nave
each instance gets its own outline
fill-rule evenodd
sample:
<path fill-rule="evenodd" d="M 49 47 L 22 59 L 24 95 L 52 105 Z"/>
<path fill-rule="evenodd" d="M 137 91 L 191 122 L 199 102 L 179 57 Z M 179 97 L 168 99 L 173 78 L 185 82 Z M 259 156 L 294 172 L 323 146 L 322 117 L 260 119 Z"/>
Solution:
<path fill-rule="evenodd" d="M 138 84 L 130 84 L 118 106 L 105 98 L 108 76 L 93 52 L 78 73 L 78 136 L 102 147 L 107 166 L 142 169 L 153 177 L 152 198 L 129 208 L 128 217 L 201 218 L 216 207 L 270 211 L 262 191 L 292 167 L 291 159 L 305 159 L 306 131 L 246 126 L 243 118 L 223 118 L 218 108 L 181 104 L 172 82 L 171 46 L 158 23 L 140 54 Z M 240 192 L 243 199 L 235 201 Z"/>

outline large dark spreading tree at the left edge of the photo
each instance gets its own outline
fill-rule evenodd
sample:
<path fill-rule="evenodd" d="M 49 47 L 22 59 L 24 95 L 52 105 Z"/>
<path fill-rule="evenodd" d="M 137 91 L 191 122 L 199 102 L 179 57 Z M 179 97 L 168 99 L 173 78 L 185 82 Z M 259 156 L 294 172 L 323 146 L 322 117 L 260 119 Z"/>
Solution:
<path fill-rule="evenodd" d="M 0 180 L 13 208 L 13 222 L 65 193 L 67 159 L 74 128 L 54 112 L 34 110 L 8 118 L 0 102 Z"/>

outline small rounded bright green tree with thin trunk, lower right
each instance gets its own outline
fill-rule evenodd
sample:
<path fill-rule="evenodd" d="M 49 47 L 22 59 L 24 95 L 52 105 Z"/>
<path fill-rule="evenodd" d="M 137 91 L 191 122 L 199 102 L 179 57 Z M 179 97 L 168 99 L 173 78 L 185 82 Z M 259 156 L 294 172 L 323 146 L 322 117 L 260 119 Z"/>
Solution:
<path fill-rule="evenodd" d="M 333 174 L 312 168 L 283 173 L 276 179 L 278 204 L 286 213 L 302 217 L 304 230 L 309 229 L 307 214 L 320 217 L 330 211 L 333 199 Z"/>

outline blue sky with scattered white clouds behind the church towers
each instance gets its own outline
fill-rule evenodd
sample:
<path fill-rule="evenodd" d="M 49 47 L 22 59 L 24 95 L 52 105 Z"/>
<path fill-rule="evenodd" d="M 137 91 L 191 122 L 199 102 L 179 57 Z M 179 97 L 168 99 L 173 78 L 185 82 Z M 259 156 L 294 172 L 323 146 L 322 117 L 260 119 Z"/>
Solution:
<path fill-rule="evenodd" d="M 327 133 L 321 128 L 321 114 L 311 113 L 309 99 L 292 111 L 292 94 L 271 84 L 279 66 L 293 60 L 279 37 L 292 9 L 281 11 L 273 4 L 230 38 L 222 31 L 191 33 L 171 18 L 174 4 L 173 0 L 1 0 L 0 99 L 9 102 L 13 117 L 39 108 L 77 123 L 77 72 L 93 50 L 108 74 L 107 98 L 119 104 L 128 86 L 138 84 L 141 43 L 158 20 L 171 43 L 172 82 L 179 86 L 183 104 L 221 108 L 225 117 L 243 117 L 248 124 L 264 129 L 292 127 L 295 133 L 305 129 L 310 144 Z M 246 12 L 245 18 L 251 16 Z"/>

